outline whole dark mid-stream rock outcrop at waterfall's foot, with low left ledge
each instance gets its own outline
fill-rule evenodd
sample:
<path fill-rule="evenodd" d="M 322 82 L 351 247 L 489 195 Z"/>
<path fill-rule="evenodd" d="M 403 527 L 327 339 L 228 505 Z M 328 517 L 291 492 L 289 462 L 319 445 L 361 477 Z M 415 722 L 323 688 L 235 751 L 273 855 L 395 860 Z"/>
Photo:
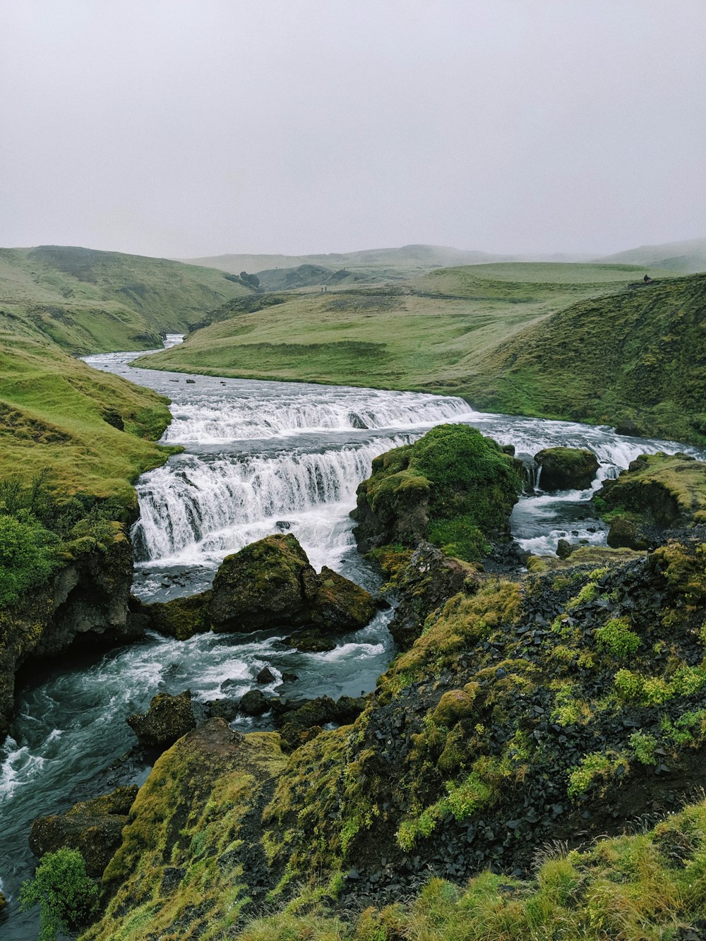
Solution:
<path fill-rule="evenodd" d="M 210 591 L 140 610 L 154 630 L 178 640 L 205 630 L 310 626 L 313 638 L 324 643 L 322 635 L 364 627 L 375 614 L 375 601 L 327 566 L 317 575 L 297 537 L 281 534 L 226 556 Z"/>

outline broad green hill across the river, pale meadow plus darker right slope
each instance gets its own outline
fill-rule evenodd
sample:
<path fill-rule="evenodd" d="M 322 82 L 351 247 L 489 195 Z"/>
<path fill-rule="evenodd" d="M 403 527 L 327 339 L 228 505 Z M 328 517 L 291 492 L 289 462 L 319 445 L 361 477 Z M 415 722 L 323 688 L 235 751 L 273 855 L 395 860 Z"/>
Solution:
<path fill-rule="evenodd" d="M 265 295 L 279 303 L 266 310 L 259 300 L 258 309 L 225 305 L 184 344 L 140 363 L 210 375 L 444 391 L 477 407 L 552 417 L 639 417 L 646 431 L 673 437 L 675 408 L 703 409 L 699 367 L 682 369 L 682 332 L 659 311 L 663 298 L 679 307 L 678 298 L 688 295 L 697 317 L 701 281 L 643 287 L 644 275 L 632 265 L 497 263 L 444 268 L 401 285 Z M 623 332 L 624 342 L 616 343 Z M 696 350 L 698 340 L 689 335 L 688 343 Z M 666 383 L 678 373 L 693 391 Z M 650 389 L 642 388 L 643 379 Z M 661 406 L 665 401 L 672 405 Z M 700 434 L 696 426 L 680 425 L 683 438 Z"/>

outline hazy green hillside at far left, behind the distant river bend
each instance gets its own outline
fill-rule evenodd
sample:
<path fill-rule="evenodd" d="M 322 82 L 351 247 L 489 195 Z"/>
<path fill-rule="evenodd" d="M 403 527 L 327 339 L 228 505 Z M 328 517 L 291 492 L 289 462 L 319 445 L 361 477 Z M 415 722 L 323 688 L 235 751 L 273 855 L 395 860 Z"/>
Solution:
<path fill-rule="evenodd" d="M 222 271 L 88 248 L 0 249 L 0 339 L 73 353 L 145 349 L 248 288 Z"/>

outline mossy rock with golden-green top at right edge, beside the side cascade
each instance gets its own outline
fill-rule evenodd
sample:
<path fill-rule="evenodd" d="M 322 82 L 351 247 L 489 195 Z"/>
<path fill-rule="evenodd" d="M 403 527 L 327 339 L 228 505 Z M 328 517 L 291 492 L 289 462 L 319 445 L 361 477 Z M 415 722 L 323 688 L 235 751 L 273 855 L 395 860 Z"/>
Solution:
<path fill-rule="evenodd" d="M 610 520 L 608 545 L 646 549 L 660 534 L 706 522 L 706 463 L 690 455 L 640 455 L 594 502 Z"/>

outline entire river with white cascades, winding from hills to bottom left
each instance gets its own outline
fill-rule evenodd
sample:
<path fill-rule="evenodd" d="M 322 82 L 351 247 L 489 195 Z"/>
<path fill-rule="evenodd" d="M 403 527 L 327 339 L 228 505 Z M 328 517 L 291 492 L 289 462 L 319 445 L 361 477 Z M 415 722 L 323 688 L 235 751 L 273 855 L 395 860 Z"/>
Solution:
<path fill-rule="evenodd" d="M 174 335 L 167 344 L 180 340 Z M 555 445 L 590 448 L 601 461 L 594 488 L 639 454 L 706 457 L 673 441 L 626 438 L 605 426 L 483 414 L 451 396 L 131 368 L 139 355 L 109 353 L 86 361 L 168 395 L 173 421 L 163 441 L 185 448 L 137 485 L 134 592 L 146 601 L 203 591 L 225 555 L 286 531 L 297 535 L 317 570 L 328 565 L 375 590 L 377 575 L 357 552 L 348 517 L 356 487 L 370 475 L 373 457 L 436 424 L 471 424 L 513 444 L 528 460 Z M 587 504 L 591 492 L 523 496 L 511 521 L 515 538 L 537 553 L 554 551 L 561 537 L 602 544 L 604 527 Z M 386 627 L 391 614 L 379 612 L 328 653 L 283 646 L 287 631 L 276 629 L 202 634 L 181 643 L 150 634 L 106 654 L 72 653 L 56 666 L 33 669 L 0 748 L 0 891 L 8 899 L 0 916 L 3 941 L 33 941 L 38 933 L 36 911 L 23 914 L 17 905 L 19 886 L 36 865 L 27 845 L 31 821 L 120 784 L 142 784 L 149 774 L 128 755 L 136 740 L 127 715 L 146 710 L 164 691 L 190 689 L 196 701 L 238 697 L 257 688 L 264 666 L 276 678 L 261 687 L 265 694 L 335 699 L 367 693 L 393 656 Z M 285 672 L 297 680 L 282 684 Z M 266 728 L 267 716 L 237 720 L 233 727 Z"/>

